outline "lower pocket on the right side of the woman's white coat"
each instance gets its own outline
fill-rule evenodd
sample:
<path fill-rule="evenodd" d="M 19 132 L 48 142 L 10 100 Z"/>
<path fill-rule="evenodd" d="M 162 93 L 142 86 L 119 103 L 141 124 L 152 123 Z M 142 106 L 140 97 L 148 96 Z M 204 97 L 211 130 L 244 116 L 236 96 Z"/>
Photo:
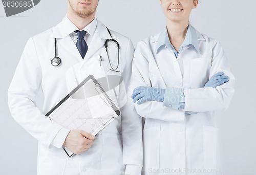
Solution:
<path fill-rule="evenodd" d="M 218 135 L 217 127 L 203 126 L 203 148 L 204 148 L 204 168 L 217 169 L 218 161 Z"/>

